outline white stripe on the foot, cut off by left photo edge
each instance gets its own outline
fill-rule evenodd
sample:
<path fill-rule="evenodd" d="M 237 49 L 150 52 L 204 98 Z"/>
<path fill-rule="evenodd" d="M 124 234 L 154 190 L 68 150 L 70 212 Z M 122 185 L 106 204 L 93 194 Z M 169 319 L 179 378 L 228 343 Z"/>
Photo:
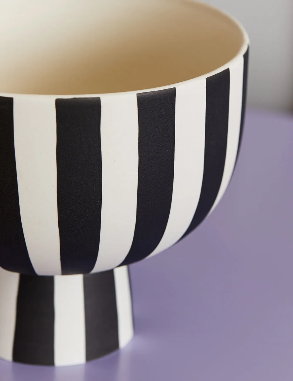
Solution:
<path fill-rule="evenodd" d="M 19 274 L 0 268 L 0 357 L 12 360 Z"/>

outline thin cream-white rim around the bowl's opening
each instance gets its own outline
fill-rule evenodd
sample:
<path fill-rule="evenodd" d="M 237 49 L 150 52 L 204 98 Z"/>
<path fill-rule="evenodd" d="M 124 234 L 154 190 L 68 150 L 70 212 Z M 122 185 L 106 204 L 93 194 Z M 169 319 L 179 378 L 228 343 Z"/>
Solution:
<path fill-rule="evenodd" d="M 180 0 L 180 1 L 182 1 L 182 0 Z M 104 97 L 111 97 L 111 96 L 127 96 L 130 94 L 149 93 L 152 91 L 159 91 L 159 90 L 165 90 L 165 89 L 170 89 L 170 88 L 174 88 L 174 87 L 177 88 L 179 86 L 181 87 L 181 86 L 185 86 L 185 85 L 191 85 L 194 82 L 197 82 L 197 81 L 206 79 L 208 77 L 211 77 L 211 76 L 218 74 L 218 73 L 222 72 L 223 70 L 228 69 L 229 67 L 233 66 L 233 64 L 235 62 L 237 62 L 240 58 L 243 57 L 243 55 L 246 53 L 246 51 L 250 45 L 249 36 L 248 36 L 247 31 L 245 30 L 244 26 L 242 25 L 242 23 L 237 18 L 235 18 L 231 14 L 227 13 L 226 11 L 222 11 L 219 8 L 212 6 L 210 4 L 203 3 L 202 1 L 198 1 L 198 0 L 184 0 L 184 1 L 190 2 L 190 3 L 197 3 L 197 4 L 204 6 L 205 8 L 209 8 L 211 11 L 214 11 L 214 12 L 216 11 L 216 13 L 218 13 L 219 15 L 225 16 L 226 18 L 230 19 L 230 21 L 234 22 L 234 24 L 239 28 L 240 32 L 242 33 L 242 37 L 243 37 L 242 45 L 241 45 L 240 49 L 238 50 L 237 54 L 235 54 L 235 56 L 232 59 L 230 59 L 228 62 L 226 62 L 224 65 L 219 66 L 218 68 L 216 68 L 216 69 L 214 69 L 208 73 L 199 75 L 199 76 L 191 78 L 191 79 L 187 79 L 187 80 L 176 82 L 176 83 L 171 83 L 169 85 L 157 86 L 157 87 L 146 88 L 146 89 L 141 89 L 141 90 L 117 91 L 114 93 L 89 93 L 89 94 L 34 94 L 34 93 L 5 93 L 5 92 L 0 91 L 0 96 L 1 97 L 11 97 L 11 98 L 15 98 L 15 97 L 18 97 L 18 98 L 41 97 L 41 98 L 48 98 L 48 99 L 51 99 L 51 98 L 53 98 L 53 99 L 57 99 L 57 98 L 99 98 L 99 97 L 104 98 Z"/>

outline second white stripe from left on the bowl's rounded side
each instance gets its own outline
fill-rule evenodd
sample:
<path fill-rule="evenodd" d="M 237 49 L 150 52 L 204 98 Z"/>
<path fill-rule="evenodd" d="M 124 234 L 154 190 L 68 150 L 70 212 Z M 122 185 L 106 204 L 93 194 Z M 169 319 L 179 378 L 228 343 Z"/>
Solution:
<path fill-rule="evenodd" d="M 92 272 L 122 263 L 133 240 L 138 182 L 136 94 L 101 97 L 101 147 L 101 235 Z"/>

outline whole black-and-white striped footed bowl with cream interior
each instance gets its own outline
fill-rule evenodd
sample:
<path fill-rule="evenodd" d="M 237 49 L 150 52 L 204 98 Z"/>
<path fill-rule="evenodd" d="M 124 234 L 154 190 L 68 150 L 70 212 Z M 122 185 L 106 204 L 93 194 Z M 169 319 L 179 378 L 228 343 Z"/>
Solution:
<path fill-rule="evenodd" d="M 5 4 L 0 357 L 83 363 L 133 336 L 127 266 L 183 239 L 225 192 L 248 37 L 185 0 Z"/>

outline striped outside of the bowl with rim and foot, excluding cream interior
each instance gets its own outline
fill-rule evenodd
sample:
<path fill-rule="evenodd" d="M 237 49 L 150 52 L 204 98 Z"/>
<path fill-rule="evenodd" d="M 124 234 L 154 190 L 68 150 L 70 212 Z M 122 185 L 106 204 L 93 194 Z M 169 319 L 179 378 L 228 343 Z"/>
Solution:
<path fill-rule="evenodd" d="M 192 7 L 241 35 L 207 74 L 148 90 L 0 93 L 1 357 L 68 365 L 124 346 L 125 265 L 183 239 L 223 196 L 242 138 L 248 37 Z"/>

